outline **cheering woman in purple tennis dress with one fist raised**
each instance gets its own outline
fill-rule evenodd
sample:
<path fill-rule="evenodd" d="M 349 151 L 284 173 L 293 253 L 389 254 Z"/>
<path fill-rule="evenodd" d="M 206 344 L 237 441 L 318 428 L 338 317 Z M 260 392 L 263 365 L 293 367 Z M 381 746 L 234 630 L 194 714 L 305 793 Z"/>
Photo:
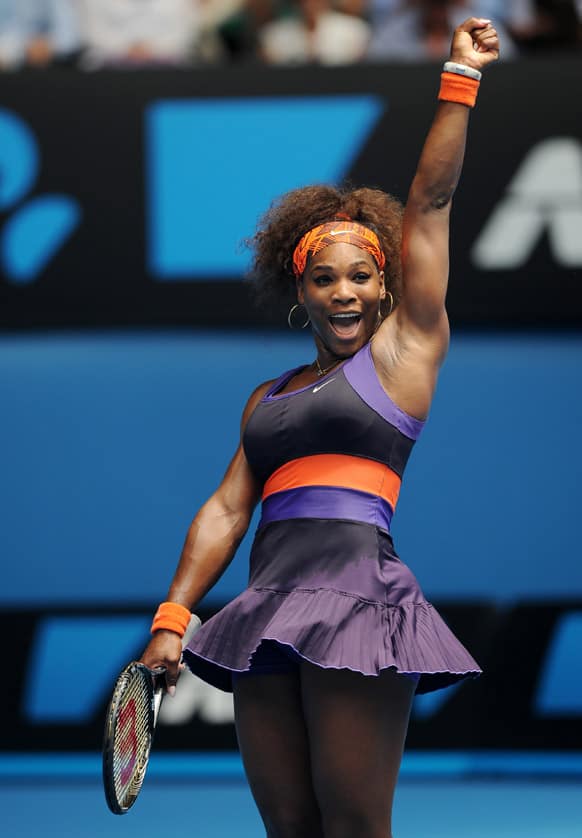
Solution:
<path fill-rule="evenodd" d="M 447 350 L 451 199 L 479 71 L 497 57 L 489 21 L 455 31 L 402 221 L 378 191 L 308 187 L 284 196 L 254 239 L 263 285 L 296 288 L 292 317 L 311 322 L 316 359 L 251 395 L 241 446 L 191 525 L 143 661 L 166 666 L 173 691 L 190 608 L 262 496 L 249 587 L 184 655 L 234 691 L 271 838 L 390 835 L 415 691 L 479 672 L 389 527 Z"/>

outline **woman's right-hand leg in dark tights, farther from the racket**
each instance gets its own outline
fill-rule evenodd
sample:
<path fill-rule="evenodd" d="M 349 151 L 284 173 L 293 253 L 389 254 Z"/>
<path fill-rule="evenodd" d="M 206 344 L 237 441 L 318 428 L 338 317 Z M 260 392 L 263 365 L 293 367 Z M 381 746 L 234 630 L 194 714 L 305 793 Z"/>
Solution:
<path fill-rule="evenodd" d="M 414 681 L 305 664 L 301 684 L 325 838 L 391 838 Z"/>

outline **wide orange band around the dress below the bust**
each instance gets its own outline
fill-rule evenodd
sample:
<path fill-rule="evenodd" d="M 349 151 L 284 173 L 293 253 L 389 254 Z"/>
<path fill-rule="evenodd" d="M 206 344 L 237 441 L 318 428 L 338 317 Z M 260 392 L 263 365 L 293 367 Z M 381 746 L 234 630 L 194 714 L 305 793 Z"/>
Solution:
<path fill-rule="evenodd" d="M 395 509 L 401 482 L 395 471 L 376 460 L 350 454 L 312 454 L 290 460 L 274 471 L 265 483 L 263 500 L 302 486 L 334 486 L 377 495 Z"/>

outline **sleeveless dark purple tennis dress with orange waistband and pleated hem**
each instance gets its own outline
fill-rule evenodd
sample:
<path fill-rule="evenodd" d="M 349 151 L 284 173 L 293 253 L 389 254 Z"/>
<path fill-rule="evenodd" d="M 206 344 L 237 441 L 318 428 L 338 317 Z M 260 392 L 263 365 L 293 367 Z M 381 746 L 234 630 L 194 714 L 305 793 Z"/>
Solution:
<path fill-rule="evenodd" d="M 273 650 L 323 668 L 420 676 L 418 693 L 480 674 L 390 536 L 423 423 L 386 394 L 369 344 L 280 394 L 298 371 L 270 387 L 243 437 L 263 486 L 248 587 L 194 635 L 186 663 L 226 691 Z"/>

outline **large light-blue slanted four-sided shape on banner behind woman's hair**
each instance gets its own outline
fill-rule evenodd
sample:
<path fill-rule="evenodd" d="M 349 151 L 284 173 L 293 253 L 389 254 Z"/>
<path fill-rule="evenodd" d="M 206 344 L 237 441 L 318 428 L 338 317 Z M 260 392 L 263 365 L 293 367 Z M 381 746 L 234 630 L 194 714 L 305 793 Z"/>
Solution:
<path fill-rule="evenodd" d="M 283 192 L 339 183 L 376 125 L 375 96 L 163 101 L 146 117 L 148 267 L 160 280 L 244 273 L 240 242 Z"/>

